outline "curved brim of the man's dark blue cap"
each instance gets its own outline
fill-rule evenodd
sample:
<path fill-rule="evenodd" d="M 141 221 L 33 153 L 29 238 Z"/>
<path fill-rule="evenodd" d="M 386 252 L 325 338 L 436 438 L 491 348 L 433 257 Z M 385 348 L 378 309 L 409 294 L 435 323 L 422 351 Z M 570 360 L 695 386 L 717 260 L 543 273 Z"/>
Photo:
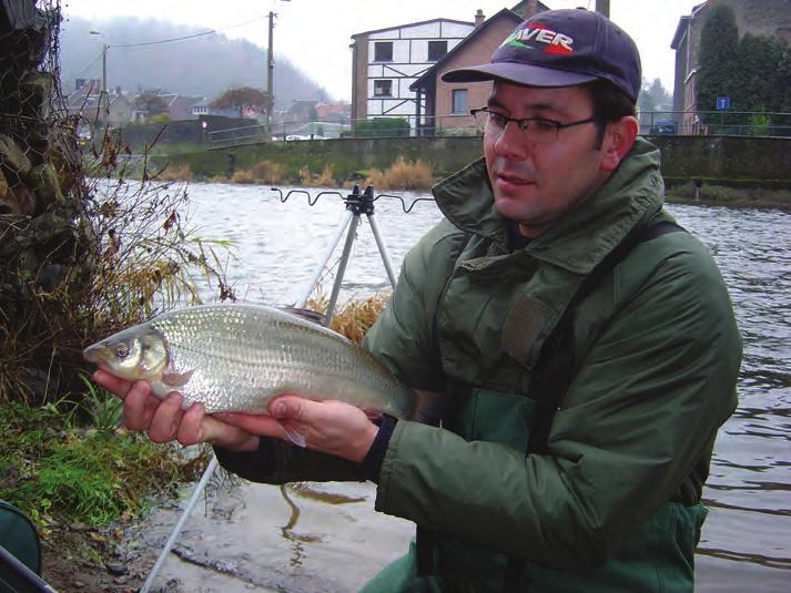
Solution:
<path fill-rule="evenodd" d="M 596 80 L 590 74 L 566 72 L 554 68 L 539 65 L 497 62 L 494 64 L 459 68 L 443 74 L 445 82 L 483 82 L 487 80 L 505 80 L 527 86 L 572 86 Z"/>

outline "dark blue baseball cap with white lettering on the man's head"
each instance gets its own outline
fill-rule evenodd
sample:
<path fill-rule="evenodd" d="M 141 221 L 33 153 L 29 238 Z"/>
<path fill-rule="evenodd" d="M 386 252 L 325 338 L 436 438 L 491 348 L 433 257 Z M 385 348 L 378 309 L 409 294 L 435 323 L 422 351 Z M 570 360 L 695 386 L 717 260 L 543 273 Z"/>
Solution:
<path fill-rule="evenodd" d="M 450 70 L 445 82 L 504 80 L 527 86 L 574 86 L 607 80 L 637 103 L 642 84 L 635 41 L 598 12 L 547 10 L 519 24 L 488 64 Z"/>

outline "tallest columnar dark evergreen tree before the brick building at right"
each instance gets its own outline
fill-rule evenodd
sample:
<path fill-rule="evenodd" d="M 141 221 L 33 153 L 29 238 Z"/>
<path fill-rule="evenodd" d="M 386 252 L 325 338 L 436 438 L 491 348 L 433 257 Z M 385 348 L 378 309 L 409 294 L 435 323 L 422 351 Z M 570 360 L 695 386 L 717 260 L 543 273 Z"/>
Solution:
<path fill-rule="evenodd" d="M 728 4 L 711 7 L 700 34 L 696 93 L 700 111 L 713 111 L 717 96 L 739 93 L 739 29 Z M 709 117 L 711 120 L 711 117 Z"/>

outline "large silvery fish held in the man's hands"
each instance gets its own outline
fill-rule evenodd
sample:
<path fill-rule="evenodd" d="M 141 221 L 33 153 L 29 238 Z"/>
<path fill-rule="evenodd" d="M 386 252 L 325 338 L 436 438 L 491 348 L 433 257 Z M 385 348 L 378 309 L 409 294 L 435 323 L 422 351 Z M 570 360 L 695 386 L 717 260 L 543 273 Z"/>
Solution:
<path fill-rule="evenodd" d="M 83 358 L 186 409 L 267 413 L 281 393 L 352 403 L 372 417 L 418 417 L 418 396 L 363 347 L 284 309 L 199 305 L 163 313 L 85 348 Z M 290 434 L 293 441 L 298 434 Z"/>

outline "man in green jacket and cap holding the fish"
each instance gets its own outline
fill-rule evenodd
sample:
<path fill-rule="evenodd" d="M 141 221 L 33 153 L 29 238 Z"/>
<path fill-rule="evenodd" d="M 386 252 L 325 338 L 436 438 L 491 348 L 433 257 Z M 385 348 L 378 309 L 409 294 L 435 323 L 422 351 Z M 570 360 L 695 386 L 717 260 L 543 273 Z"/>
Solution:
<path fill-rule="evenodd" d="M 444 78 L 494 81 L 474 110 L 485 160 L 435 186 L 446 221 L 366 338 L 445 395 L 442 428 L 293 395 L 275 419 L 182 415 L 178 395 L 97 380 L 125 397 L 130 428 L 212 442 L 249 479 L 376 481 L 376 509 L 418 534 L 366 591 L 692 591 L 741 341 L 711 256 L 662 209 L 657 149 L 636 137 L 637 48 L 600 14 L 548 11 Z M 307 449 L 277 440 L 278 422 Z"/>

